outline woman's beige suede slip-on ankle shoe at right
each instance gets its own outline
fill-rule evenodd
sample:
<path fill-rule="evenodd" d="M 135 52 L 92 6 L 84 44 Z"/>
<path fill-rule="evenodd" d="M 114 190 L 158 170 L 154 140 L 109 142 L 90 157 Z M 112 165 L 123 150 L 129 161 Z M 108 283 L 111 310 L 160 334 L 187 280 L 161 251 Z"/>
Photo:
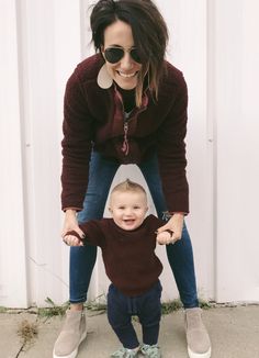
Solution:
<path fill-rule="evenodd" d="M 185 327 L 189 357 L 210 358 L 212 354 L 211 340 L 202 322 L 201 309 L 185 310 Z"/>

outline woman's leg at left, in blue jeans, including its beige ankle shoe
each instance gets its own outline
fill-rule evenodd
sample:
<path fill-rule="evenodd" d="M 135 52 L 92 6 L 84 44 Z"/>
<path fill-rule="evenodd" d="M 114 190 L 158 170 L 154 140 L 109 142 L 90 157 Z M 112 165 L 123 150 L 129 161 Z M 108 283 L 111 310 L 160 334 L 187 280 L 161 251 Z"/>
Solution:
<path fill-rule="evenodd" d="M 101 219 L 106 198 L 119 165 L 92 153 L 89 168 L 89 183 L 83 209 L 78 222 Z M 80 343 L 87 336 L 83 302 L 95 264 L 97 247 L 87 245 L 70 247 L 70 310 L 67 311 L 63 329 L 55 343 L 53 358 L 76 357 Z"/>

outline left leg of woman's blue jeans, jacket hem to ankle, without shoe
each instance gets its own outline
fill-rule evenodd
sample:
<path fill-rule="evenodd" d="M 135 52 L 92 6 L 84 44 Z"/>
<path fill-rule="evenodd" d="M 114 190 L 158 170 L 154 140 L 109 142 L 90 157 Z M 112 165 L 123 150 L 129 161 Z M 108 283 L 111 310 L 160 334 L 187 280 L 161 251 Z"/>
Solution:
<path fill-rule="evenodd" d="M 109 190 L 117 168 L 117 163 L 104 159 L 97 152 L 92 153 L 83 209 L 77 216 L 79 224 L 103 216 Z M 81 303 L 87 300 L 95 259 L 95 246 L 70 247 L 70 303 Z"/>

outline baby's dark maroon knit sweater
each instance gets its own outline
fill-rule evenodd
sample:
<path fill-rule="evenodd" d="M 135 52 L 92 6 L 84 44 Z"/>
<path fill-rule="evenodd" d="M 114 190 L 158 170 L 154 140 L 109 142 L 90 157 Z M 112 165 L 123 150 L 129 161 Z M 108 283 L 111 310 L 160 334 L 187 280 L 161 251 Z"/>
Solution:
<path fill-rule="evenodd" d="M 162 271 L 155 254 L 155 231 L 164 224 L 149 215 L 134 231 L 119 227 L 112 219 L 92 220 L 80 228 L 86 234 L 86 243 L 101 247 L 109 279 L 124 294 L 135 297 L 148 291 Z M 75 232 L 68 234 L 79 237 Z"/>

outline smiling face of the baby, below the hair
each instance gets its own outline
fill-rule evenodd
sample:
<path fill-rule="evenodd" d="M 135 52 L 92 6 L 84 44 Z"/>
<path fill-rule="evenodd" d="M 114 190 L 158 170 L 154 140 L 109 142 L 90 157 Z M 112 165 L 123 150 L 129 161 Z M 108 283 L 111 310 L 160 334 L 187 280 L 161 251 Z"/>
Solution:
<path fill-rule="evenodd" d="M 110 212 L 115 224 L 132 231 L 142 225 L 147 212 L 147 199 L 143 192 L 114 192 L 111 195 Z"/>

